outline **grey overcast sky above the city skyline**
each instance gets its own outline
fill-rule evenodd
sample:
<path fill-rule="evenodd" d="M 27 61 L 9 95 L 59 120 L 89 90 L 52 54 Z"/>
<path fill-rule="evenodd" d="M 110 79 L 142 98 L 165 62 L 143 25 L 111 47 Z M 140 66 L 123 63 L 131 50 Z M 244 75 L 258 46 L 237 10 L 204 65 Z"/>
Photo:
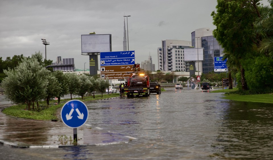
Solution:
<path fill-rule="evenodd" d="M 74 58 L 76 68 L 84 63 L 88 68 L 81 35 L 111 34 L 112 51 L 123 51 L 123 16 L 130 15 L 129 50 L 135 50 L 136 63 L 150 54 L 157 70 L 161 40 L 191 41 L 196 29 L 215 29 L 210 14 L 216 5 L 216 0 L 0 0 L 0 57 L 41 51 L 45 58 L 44 38 L 50 42 L 47 59 Z"/>

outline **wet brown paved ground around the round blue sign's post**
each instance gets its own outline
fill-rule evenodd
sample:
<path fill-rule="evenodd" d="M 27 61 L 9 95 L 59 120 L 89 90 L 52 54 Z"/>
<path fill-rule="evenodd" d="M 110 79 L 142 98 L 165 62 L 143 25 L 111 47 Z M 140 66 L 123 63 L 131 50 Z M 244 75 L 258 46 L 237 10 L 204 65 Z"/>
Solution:
<path fill-rule="evenodd" d="M 0 95 L 0 144 L 20 148 L 74 145 L 74 130 L 61 121 L 61 108 L 57 112 L 59 121 L 53 122 L 23 119 L 2 113 L 3 109 L 12 105 L 10 101 L 5 100 L 4 95 Z M 77 145 L 109 145 L 128 143 L 136 139 L 86 123 L 76 130 Z"/>

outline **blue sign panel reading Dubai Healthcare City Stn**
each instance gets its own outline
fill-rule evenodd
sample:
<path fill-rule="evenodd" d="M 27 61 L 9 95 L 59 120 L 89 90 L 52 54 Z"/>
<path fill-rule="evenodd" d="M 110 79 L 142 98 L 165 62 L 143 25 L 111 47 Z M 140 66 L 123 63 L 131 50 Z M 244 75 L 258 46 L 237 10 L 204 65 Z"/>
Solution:
<path fill-rule="evenodd" d="M 100 59 L 100 66 L 134 65 L 135 58 Z"/>

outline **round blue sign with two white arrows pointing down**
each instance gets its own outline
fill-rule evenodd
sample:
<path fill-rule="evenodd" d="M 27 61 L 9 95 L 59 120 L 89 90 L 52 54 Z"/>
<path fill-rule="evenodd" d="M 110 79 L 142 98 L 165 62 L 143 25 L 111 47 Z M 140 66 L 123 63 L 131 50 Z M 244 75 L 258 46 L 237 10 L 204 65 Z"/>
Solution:
<path fill-rule="evenodd" d="M 77 128 L 86 122 L 88 109 L 82 101 L 71 100 L 63 105 L 61 118 L 65 125 L 71 128 Z"/>

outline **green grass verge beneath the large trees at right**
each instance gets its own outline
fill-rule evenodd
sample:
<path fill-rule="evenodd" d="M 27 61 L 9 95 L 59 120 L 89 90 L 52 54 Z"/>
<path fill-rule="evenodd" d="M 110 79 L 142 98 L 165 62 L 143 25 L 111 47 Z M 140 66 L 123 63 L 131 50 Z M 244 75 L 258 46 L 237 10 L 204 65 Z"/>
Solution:
<path fill-rule="evenodd" d="M 237 91 L 238 88 L 233 88 L 232 90 L 215 90 L 211 93 L 226 93 L 223 99 L 229 99 L 233 101 L 243 101 L 243 102 L 259 102 L 259 103 L 273 103 L 273 93 L 270 94 L 249 94 L 249 95 L 239 95 L 235 93 L 230 93 Z M 228 94 L 229 93 L 229 94 Z"/>

